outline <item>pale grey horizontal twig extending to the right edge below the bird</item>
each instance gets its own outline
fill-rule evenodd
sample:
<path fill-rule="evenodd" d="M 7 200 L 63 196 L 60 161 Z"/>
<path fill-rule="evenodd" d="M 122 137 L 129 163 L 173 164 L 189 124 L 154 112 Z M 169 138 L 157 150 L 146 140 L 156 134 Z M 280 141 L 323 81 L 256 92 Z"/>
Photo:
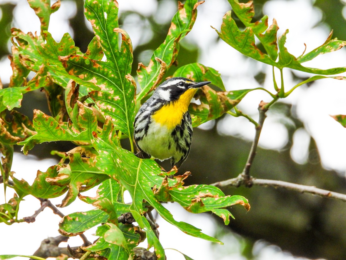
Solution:
<path fill-rule="evenodd" d="M 318 195 L 321 197 L 333 198 L 333 199 L 338 199 L 338 200 L 342 200 L 346 202 L 346 194 L 319 189 L 319 188 L 316 188 L 315 186 L 301 185 L 301 184 L 285 182 L 285 181 L 256 179 L 253 177 L 251 177 L 250 180 L 253 185 L 269 186 L 274 188 L 284 188 L 287 190 L 294 190 L 301 193 L 310 193 L 310 194 Z M 246 186 L 245 179 L 242 176 L 242 174 L 239 174 L 238 177 L 236 178 L 212 183 L 210 185 L 217 186 L 217 187 L 225 187 L 225 186 L 239 187 L 240 185 Z"/>

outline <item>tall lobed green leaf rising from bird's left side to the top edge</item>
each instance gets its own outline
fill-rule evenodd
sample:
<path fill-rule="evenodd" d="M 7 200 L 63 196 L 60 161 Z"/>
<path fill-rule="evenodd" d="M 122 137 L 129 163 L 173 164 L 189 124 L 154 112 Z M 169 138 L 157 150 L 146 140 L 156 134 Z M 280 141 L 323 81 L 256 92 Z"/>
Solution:
<path fill-rule="evenodd" d="M 101 88 L 91 92 L 90 96 L 103 115 L 111 116 L 117 129 L 132 137 L 136 93 L 136 84 L 130 75 L 133 50 L 128 34 L 118 28 L 118 3 L 87 0 L 84 7 L 85 16 L 98 37 L 107 61 L 78 56 L 61 61 L 70 75 L 82 78 L 84 84 L 92 82 Z M 121 46 L 118 44 L 119 34 Z"/>

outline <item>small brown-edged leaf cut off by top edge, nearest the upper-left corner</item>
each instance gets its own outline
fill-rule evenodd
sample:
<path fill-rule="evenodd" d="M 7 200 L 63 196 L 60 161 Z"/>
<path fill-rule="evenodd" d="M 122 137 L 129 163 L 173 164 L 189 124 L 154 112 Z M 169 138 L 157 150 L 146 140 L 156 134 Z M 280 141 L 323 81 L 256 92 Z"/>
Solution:
<path fill-rule="evenodd" d="M 34 9 L 35 14 L 38 16 L 41 22 L 41 34 L 43 31 L 48 29 L 49 18 L 51 14 L 57 11 L 60 7 L 60 0 L 55 2 L 51 7 L 50 0 L 28 0 L 28 3 L 32 9 Z"/>

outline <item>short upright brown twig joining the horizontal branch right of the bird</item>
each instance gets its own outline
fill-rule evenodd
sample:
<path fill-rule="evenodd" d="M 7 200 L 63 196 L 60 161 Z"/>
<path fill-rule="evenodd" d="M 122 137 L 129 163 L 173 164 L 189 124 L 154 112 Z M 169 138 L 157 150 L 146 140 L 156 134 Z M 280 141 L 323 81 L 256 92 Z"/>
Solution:
<path fill-rule="evenodd" d="M 260 139 L 263 123 L 264 123 L 264 120 L 266 118 L 266 114 L 265 113 L 268 110 L 266 108 L 266 104 L 267 103 L 261 101 L 260 105 L 258 106 L 258 112 L 260 114 L 260 118 L 258 119 L 255 138 L 254 138 L 254 141 L 252 143 L 249 156 L 247 158 L 246 164 L 245 164 L 243 172 L 242 172 L 242 175 L 244 176 L 245 185 L 248 186 L 248 187 L 251 187 L 251 185 L 252 185 L 251 182 L 250 182 L 250 168 L 251 168 L 252 162 L 254 161 L 254 158 L 255 158 L 255 155 L 256 155 L 256 149 L 257 149 L 257 146 L 258 146 L 258 140 Z"/>

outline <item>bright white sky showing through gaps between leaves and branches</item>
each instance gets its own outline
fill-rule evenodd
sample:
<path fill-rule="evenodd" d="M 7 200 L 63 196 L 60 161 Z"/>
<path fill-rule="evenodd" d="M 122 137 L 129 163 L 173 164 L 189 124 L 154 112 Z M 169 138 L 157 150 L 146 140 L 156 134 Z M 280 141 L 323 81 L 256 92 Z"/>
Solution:
<path fill-rule="evenodd" d="M 0 3 L 8 2 L 0 0 Z M 13 0 L 18 3 L 15 9 L 15 24 L 22 31 L 39 32 L 39 20 L 35 16 L 34 11 L 28 6 L 25 0 Z M 163 1 L 164 5 L 169 5 L 171 8 L 165 8 L 164 5 L 157 6 L 154 0 L 119 0 L 120 12 L 125 10 L 135 10 L 142 12 L 144 15 L 155 12 L 156 8 L 160 8 L 166 15 L 157 16 L 155 19 L 167 19 L 174 14 L 174 6 L 169 0 Z M 255 1 L 256 2 L 256 1 Z M 55 40 L 60 41 L 65 32 L 69 32 L 72 36 L 72 31 L 68 26 L 68 18 L 74 15 L 75 6 L 72 1 L 65 0 L 62 2 L 60 10 L 51 16 L 49 31 L 52 33 Z M 207 0 L 198 7 L 198 17 L 193 27 L 193 30 L 186 36 L 185 42 L 195 42 L 201 48 L 199 62 L 206 66 L 213 67 L 222 75 L 226 88 L 229 90 L 254 88 L 259 87 L 258 83 L 253 79 L 253 75 L 258 71 L 267 72 L 268 76 L 264 83 L 265 88 L 274 91 L 270 76 L 271 67 L 263 65 L 259 62 L 245 60 L 243 55 L 232 49 L 223 41 L 216 42 L 217 34 L 210 28 L 210 25 L 219 29 L 222 22 L 222 16 L 230 9 L 226 0 Z M 293 1 L 270 1 L 264 6 L 264 13 L 269 16 L 269 21 L 275 17 L 280 27 L 278 35 L 282 34 L 286 28 L 290 30 L 287 35 L 286 47 L 292 54 L 298 56 L 304 50 L 304 43 L 307 44 L 307 52 L 322 44 L 329 32 L 330 28 L 326 26 L 315 26 L 321 17 L 321 11 L 316 8 L 311 8 L 309 0 L 293 0 Z M 294 19 L 292 19 L 294 14 Z M 1 15 L 1 14 L 0 14 Z M 131 20 L 133 19 L 133 20 Z M 136 17 L 128 18 L 124 29 L 129 33 L 134 47 L 143 41 L 148 40 L 146 25 L 139 23 Z M 28 22 L 30 21 L 30 22 Z M 128 22 L 128 23 L 127 23 Z M 140 29 L 138 29 L 140 25 Z M 10 44 L 9 44 L 10 46 Z M 212 47 L 211 47 L 212 46 Z M 307 62 L 304 64 L 309 67 L 330 68 L 345 66 L 346 53 L 345 50 L 339 50 L 335 53 L 321 55 L 316 61 Z M 293 80 L 288 71 L 285 71 L 285 89 L 293 86 Z M 277 72 L 276 72 L 277 73 Z M 298 75 L 306 76 L 306 73 L 295 71 Z M 10 63 L 7 58 L 0 60 L 0 78 L 3 83 L 9 82 L 11 74 Z M 276 74 L 279 78 L 279 74 Z M 345 81 L 332 79 L 323 79 L 317 81 L 310 88 L 300 87 L 296 89 L 289 98 L 284 102 L 297 105 L 297 116 L 306 126 L 305 130 L 299 130 L 294 135 L 294 144 L 291 150 L 292 158 L 298 163 L 306 162 L 308 156 L 309 135 L 312 135 L 318 145 L 321 155 L 322 164 L 326 168 L 334 169 L 344 174 L 346 170 L 345 155 L 346 150 L 346 129 L 342 128 L 337 122 L 330 118 L 329 114 L 346 114 L 345 103 Z M 239 108 L 245 113 L 257 116 L 257 106 L 261 100 L 270 101 L 270 96 L 261 91 L 255 91 L 250 94 L 239 104 Z M 209 125 L 212 124 L 209 123 Z M 204 125 L 208 127 L 208 125 Z M 254 136 L 254 128 L 244 118 L 233 118 L 228 116 L 224 122 L 218 125 L 218 131 L 222 134 L 230 134 L 242 136 L 252 140 Z M 275 114 L 269 114 L 266 119 L 263 132 L 260 138 L 260 145 L 265 148 L 280 150 L 287 142 L 287 131 L 283 127 L 279 118 Z M 33 157 L 24 157 L 23 155 L 15 155 L 13 161 L 13 171 L 17 172 L 17 177 L 23 177 L 32 182 L 35 178 L 37 166 L 42 167 L 40 170 L 46 170 L 55 162 L 52 160 L 33 161 Z M 31 181 L 30 181 L 31 180 Z M 90 196 L 94 196 L 94 190 L 88 191 Z M 7 197 L 12 197 L 13 191 L 7 189 Z M 19 217 L 30 216 L 39 207 L 38 200 L 27 196 L 25 202 L 21 203 Z M 62 198 L 53 199 L 53 203 L 60 203 Z M 0 185 L 0 203 L 3 203 L 3 187 Z M 179 216 L 186 222 L 191 223 L 191 214 L 182 210 L 174 204 L 167 205 L 173 216 Z M 64 214 L 74 211 L 83 211 L 90 209 L 91 206 L 80 201 L 76 201 L 72 206 L 63 208 L 61 211 Z M 201 215 L 198 218 L 193 216 L 194 225 L 203 227 L 209 235 L 213 235 L 215 224 L 213 219 L 207 214 Z M 48 236 L 57 236 L 57 223 L 60 217 L 52 214 L 50 209 L 45 209 L 37 217 L 35 223 L 13 224 L 7 226 L 0 224 L 1 233 L 6 233 L 6 236 L 0 236 L 0 253 L 1 254 L 31 254 L 39 246 L 40 241 Z M 236 220 L 231 220 L 236 221 Z M 44 223 L 44 224 L 43 224 Z M 51 224 L 53 223 L 53 224 Z M 160 241 L 165 248 L 175 248 L 189 255 L 193 259 L 213 259 L 211 255 L 210 243 L 194 237 L 186 237 L 177 228 L 166 224 L 162 219 L 158 219 L 160 225 Z M 94 230 L 86 232 L 89 240 L 94 237 L 90 234 Z M 18 236 L 18 234 L 21 234 Z M 172 240 L 179 240 L 180 243 L 172 243 Z M 184 243 L 188 241 L 188 243 Z M 234 254 L 228 255 L 226 259 L 244 259 L 239 256 L 239 247 L 234 244 L 240 243 L 233 235 L 225 237 L 226 247 L 234 248 Z M 69 241 L 71 246 L 80 244 L 78 237 L 72 238 Z M 18 246 L 18 244 L 20 246 Z M 192 248 L 192 250 L 190 250 Z M 198 250 L 193 250 L 198 248 Z M 223 250 L 219 247 L 218 250 Z M 273 246 L 268 246 L 264 243 L 256 245 L 257 259 L 277 259 L 289 260 L 293 259 L 289 254 L 282 253 Z M 215 251 L 213 251 L 215 252 Z M 174 252 L 167 250 L 168 259 L 183 259 L 183 257 Z"/>

